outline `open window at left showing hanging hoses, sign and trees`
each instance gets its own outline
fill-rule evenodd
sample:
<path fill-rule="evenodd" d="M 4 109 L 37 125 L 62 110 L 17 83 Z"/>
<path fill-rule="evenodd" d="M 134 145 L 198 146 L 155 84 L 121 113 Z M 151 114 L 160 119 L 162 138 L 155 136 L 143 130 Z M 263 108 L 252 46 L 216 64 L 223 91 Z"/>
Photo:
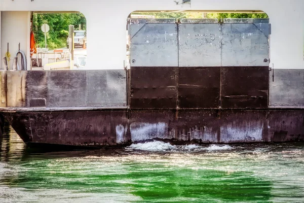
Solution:
<path fill-rule="evenodd" d="M 79 70 L 87 59 L 80 12 L 3 11 L 2 70 Z"/>

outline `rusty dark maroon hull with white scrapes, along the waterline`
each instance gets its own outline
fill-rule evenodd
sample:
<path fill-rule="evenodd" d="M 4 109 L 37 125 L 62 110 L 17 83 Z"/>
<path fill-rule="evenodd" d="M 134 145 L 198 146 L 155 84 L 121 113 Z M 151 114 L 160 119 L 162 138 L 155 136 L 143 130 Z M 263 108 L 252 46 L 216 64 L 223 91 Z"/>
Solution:
<path fill-rule="evenodd" d="M 4 113 L 25 143 L 83 147 L 164 140 L 187 143 L 304 141 L 302 110 L 105 110 Z"/>

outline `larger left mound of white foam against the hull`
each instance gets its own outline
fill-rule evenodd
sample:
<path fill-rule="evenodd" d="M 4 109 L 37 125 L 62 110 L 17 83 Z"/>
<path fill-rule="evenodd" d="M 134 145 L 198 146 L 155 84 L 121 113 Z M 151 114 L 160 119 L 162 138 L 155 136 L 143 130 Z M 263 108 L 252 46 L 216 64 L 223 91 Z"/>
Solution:
<path fill-rule="evenodd" d="M 143 151 L 167 151 L 167 150 L 176 149 L 176 147 L 170 145 L 170 143 L 164 143 L 161 141 L 132 144 L 127 148 L 134 150 L 143 150 Z"/>

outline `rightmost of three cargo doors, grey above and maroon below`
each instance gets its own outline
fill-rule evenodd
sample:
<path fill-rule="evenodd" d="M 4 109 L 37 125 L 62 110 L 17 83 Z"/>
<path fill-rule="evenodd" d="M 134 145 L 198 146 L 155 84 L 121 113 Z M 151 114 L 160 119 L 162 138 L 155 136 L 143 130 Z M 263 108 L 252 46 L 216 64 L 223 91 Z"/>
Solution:
<path fill-rule="evenodd" d="M 268 19 L 223 19 L 221 107 L 268 107 Z"/>

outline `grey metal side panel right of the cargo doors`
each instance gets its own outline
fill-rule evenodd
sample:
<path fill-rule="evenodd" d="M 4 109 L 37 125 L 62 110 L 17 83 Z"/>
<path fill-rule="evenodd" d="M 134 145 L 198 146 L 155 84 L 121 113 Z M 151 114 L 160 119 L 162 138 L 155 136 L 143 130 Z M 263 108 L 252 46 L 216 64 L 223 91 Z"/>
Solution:
<path fill-rule="evenodd" d="M 275 69 L 269 81 L 270 106 L 303 106 L 304 70 Z M 272 75 L 272 72 L 271 72 Z"/>

